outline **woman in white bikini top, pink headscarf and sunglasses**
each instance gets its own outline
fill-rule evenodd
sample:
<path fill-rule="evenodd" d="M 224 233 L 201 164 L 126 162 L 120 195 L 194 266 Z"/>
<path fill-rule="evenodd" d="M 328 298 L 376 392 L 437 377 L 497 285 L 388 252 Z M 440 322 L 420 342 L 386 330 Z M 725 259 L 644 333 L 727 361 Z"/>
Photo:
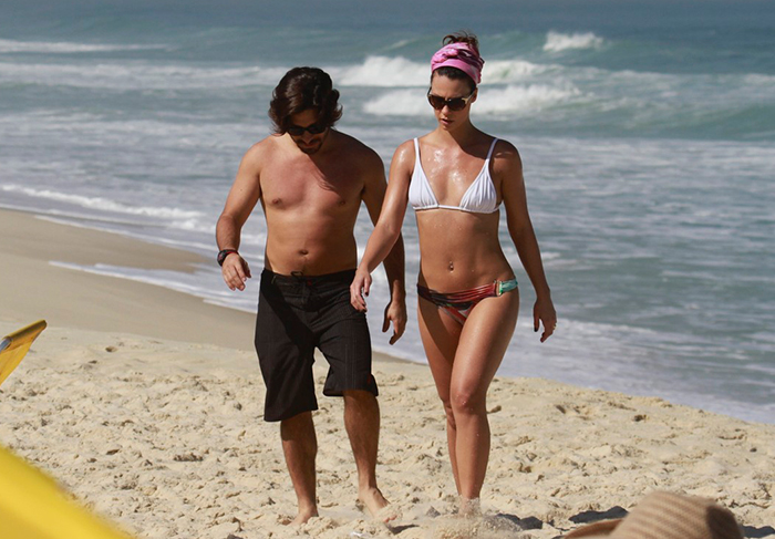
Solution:
<path fill-rule="evenodd" d="M 489 456 L 487 388 L 514 333 L 519 296 L 498 240 L 499 206 L 536 290 L 541 342 L 557 315 L 530 224 L 517 149 L 471 123 L 484 61 L 469 34 L 444 38 L 431 60 L 427 99 L 438 126 L 395 151 L 380 219 L 350 288 L 365 311 L 371 271 L 399 238 L 407 201 L 420 234 L 420 333 L 444 403 L 461 512 L 478 510 Z"/>

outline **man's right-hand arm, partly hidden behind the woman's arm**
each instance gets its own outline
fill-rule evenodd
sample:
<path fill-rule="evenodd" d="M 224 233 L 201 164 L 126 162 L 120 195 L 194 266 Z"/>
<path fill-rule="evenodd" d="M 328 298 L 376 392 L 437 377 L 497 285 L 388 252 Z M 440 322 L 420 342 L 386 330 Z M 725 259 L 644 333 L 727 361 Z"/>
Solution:
<path fill-rule="evenodd" d="M 376 225 L 382 210 L 382 201 L 385 198 L 388 182 L 385 182 L 385 168 L 380 156 L 372 149 L 364 158 L 363 172 L 363 203 L 366 205 L 371 222 Z M 386 332 L 393 323 L 393 335 L 390 343 L 401 339 L 406 328 L 406 288 L 404 283 L 404 240 L 401 236 L 395 241 L 393 249 L 382 262 L 388 274 L 390 286 L 390 303 L 385 308 L 385 317 L 382 323 L 382 332 Z"/>

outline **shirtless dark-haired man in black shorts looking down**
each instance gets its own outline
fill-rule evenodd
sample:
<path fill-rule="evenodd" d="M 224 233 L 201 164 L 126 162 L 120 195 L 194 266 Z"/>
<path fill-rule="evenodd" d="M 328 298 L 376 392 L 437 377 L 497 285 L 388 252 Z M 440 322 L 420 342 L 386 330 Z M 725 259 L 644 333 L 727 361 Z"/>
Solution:
<path fill-rule="evenodd" d="M 349 292 L 358 263 L 353 229 L 361 201 L 376 222 L 386 184 L 376 153 L 333 129 L 342 114 L 338 100 L 322 70 L 286 73 L 269 108 L 276 133 L 245 154 L 216 229 L 224 280 L 231 290 L 244 290 L 250 269 L 238 252 L 240 231 L 261 201 L 267 241 L 256 351 L 267 386 L 265 421 L 280 422 L 298 498 L 293 524 L 318 515 L 314 348 L 330 365 L 323 394 L 344 397 L 359 499 L 372 516 L 388 506 L 375 478 L 380 411 L 369 329 L 363 313 L 350 304 Z M 382 331 L 392 322 L 392 344 L 406 324 L 401 240 L 384 266 L 391 301 Z"/>

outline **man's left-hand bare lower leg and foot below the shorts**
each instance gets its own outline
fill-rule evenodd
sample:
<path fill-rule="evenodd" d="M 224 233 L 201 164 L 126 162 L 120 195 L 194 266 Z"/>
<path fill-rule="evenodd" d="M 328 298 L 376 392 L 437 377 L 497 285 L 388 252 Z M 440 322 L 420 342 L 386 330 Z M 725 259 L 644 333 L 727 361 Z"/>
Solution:
<path fill-rule="evenodd" d="M 282 453 L 293 483 L 299 504 L 299 514 L 291 522 L 302 525 L 318 516 L 316 499 L 314 457 L 318 453 L 318 438 L 314 434 L 312 413 L 302 412 L 280 422 Z"/>

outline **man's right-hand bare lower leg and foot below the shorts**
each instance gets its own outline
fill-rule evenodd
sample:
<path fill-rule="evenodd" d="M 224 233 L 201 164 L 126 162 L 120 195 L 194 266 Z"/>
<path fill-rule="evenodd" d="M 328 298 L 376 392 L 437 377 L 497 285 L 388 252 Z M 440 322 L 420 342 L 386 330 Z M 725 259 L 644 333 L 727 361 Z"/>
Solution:
<path fill-rule="evenodd" d="M 376 452 L 380 442 L 380 405 L 368 391 L 344 392 L 344 428 L 358 467 L 358 499 L 374 518 L 393 520 L 384 515 L 389 501 L 376 487 Z"/>

